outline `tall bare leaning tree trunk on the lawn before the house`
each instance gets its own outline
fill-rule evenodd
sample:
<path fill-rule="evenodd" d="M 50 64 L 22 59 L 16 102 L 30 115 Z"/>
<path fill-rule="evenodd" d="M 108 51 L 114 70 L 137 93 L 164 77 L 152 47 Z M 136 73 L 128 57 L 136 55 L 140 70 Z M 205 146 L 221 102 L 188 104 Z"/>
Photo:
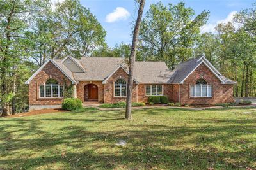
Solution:
<path fill-rule="evenodd" d="M 132 119 L 132 84 L 133 84 L 133 69 L 134 63 L 136 59 L 136 45 L 138 43 L 138 35 L 140 31 L 141 18 L 143 14 L 145 0 L 140 0 L 140 7 L 138 11 L 138 16 L 136 20 L 136 24 L 133 32 L 132 46 L 131 46 L 131 54 L 129 57 L 129 77 L 127 84 L 127 98 L 126 98 L 126 111 L 125 118 Z"/>

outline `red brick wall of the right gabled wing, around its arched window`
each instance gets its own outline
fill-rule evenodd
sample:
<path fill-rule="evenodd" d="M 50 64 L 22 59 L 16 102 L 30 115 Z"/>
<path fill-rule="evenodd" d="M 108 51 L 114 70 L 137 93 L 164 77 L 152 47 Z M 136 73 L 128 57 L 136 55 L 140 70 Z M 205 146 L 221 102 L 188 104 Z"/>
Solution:
<path fill-rule="evenodd" d="M 212 97 L 190 97 L 190 85 L 204 78 L 209 85 L 212 85 Z M 233 85 L 222 85 L 221 81 L 201 64 L 196 70 L 180 85 L 180 99 L 182 104 L 216 104 L 233 101 Z"/>

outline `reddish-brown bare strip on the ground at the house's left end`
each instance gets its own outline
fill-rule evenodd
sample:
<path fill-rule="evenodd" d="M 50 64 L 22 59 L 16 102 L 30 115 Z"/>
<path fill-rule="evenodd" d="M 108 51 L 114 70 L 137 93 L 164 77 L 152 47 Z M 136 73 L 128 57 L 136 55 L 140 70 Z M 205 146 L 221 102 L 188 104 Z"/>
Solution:
<path fill-rule="evenodd" d="M 42 109 L 42 110 L 32 110 L 32 111 L 29 111 L 29 112 L 25 112 L 25 113 L 17 113 L 15 115 L 7 115 L 7 116 L 4 116 L 4 117 L 28 117 L 28 116 L 31 116 L 31 115 L 41 115 L 41 114 L 45 114 L 45 113 L 56 113 L 56 112 L 63 112 L 63 111 L 66 111 L 66 110 L 63 110 L 63 109 Z"/>

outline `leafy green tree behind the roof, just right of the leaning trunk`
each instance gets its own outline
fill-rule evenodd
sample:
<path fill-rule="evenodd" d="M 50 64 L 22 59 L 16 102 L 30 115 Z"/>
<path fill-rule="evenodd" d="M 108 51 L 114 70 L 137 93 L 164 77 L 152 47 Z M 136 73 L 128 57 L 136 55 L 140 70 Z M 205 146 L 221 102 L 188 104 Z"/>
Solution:
<path fill-rule="evenodd" d="M 149 60 L 165 61 L 173 69 L 175 64 L 192 56 L 196 41 L 200 38 L 200 27 L 209 18 L 208 11 L 194 16 L 184 3 L 150 5 L 141 22 L 140 47 Z M 147 60 L 147 56 L 143 57 Z"/>

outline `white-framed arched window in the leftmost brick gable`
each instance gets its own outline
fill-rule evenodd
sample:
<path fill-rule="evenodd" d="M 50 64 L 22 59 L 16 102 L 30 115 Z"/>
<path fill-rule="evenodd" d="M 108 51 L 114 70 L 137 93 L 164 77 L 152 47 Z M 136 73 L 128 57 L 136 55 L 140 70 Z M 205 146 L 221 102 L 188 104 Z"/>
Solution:
<path fill-rule="evenodd" d="M 63 91 L 63 85 L 58 85 L 58 81 L 52 78 L 49 78 L 45 82 L 45 85 L 39 86 L 39 94 L 41 98 L 63 97 Z"/>

